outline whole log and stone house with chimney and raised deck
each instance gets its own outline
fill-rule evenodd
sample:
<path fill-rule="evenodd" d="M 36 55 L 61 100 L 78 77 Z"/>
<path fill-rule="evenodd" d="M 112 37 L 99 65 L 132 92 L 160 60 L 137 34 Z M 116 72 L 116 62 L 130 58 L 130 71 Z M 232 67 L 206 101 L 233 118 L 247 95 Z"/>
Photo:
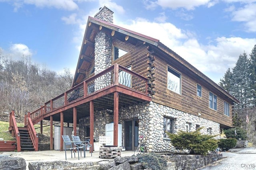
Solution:
<path fill-rule="evenodd" d="M 92 144 L 112 123 L 113 145 L 135 150 L 140 137 L 147 152 L 170 152 L 165 131 L 204 127 L 202 133 L 218 135 L 232 127 L 238 102 L 158 39 L 114 25 L 104 6 L 88 17 L 72 88 L 28 113 L 25 126 L 41 121 L 42 132 L 42 120 L 49 120 L 52 149 L 53 121 L 61 134 L 64 122 L 73 123 L 75 135 L 79 127 Z"/>

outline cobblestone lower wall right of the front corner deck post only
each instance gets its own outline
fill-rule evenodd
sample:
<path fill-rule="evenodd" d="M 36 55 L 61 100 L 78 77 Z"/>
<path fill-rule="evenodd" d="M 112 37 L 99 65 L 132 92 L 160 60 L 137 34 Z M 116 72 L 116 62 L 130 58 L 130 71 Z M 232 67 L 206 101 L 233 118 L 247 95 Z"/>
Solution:
<path fill-rule="evenodd" d="M 190 131 L 195 131 L 196 125 L 200 125 L 206 127 L 201 130 L 204 134 L 207 134 L 209 127 L 212 128 L 212 135 L 220 134 L 219 123 L 154 102 L 123 108 L 119 113 L 122 124 L 126 119 L 139 119 L 138 135 L 144 136 L 142 143 L 145 143 L 147 152 L 175 152 L 177 150 L 171 145 L 170 140 L 164 139 L 164 117 L 174 119 L 174 132 L 186 131 L 185 124 L 190 123 Z"/>

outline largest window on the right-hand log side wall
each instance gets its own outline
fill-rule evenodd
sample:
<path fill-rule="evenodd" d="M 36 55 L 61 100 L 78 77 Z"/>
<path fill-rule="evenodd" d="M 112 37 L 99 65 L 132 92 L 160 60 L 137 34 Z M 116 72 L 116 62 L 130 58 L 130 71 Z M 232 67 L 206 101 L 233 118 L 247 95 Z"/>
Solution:
<path fill-rule="evenodd" d="M 181 94 L 181 74 L 168 67 L 167 88 Z"/>

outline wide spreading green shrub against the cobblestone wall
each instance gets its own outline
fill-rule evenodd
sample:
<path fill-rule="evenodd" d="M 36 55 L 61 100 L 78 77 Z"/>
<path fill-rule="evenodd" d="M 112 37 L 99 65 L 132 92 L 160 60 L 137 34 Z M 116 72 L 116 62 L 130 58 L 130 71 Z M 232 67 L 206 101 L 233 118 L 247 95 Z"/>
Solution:
<path fill-rule="evenodd" d="M 178 134 L 168 133 L 168 137 L 172 141 L 172 145 L 176 149 L 188 149 L 190 154 L 202 154 L 210 150 L 215 150 L 218 147 L 218 140 L 213 139 L 213 135 L 202 135 L 200 130 L 203 127 L 193 132 L 180 131 Z"/>

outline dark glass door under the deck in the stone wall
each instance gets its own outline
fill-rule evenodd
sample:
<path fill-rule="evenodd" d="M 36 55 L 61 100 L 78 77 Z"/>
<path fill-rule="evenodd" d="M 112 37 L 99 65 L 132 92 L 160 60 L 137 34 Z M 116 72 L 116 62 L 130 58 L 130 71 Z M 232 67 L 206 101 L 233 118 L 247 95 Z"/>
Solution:
<path fill-rule="evenodd" d="M 136 150 L 138 147 L 138 127 L 139 120 L 132 119 L 125 121 L 125 129 L 124 129 L 124 146 L 126 150 Z"/>

